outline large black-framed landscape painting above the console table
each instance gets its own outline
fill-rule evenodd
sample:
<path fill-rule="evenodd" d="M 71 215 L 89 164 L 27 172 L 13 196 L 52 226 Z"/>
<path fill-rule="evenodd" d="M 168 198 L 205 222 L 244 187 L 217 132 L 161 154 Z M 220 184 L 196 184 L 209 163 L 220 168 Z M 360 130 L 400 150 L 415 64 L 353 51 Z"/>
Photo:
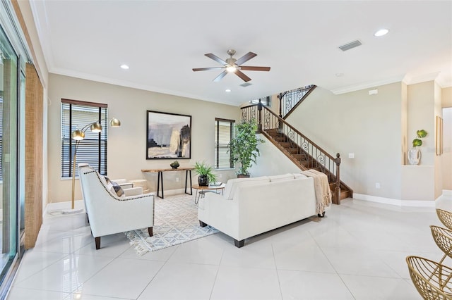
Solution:
<path fill-rule="evenodd" d="M 191 115 L 147 114 L 146 159 L 191 158 Z"/>

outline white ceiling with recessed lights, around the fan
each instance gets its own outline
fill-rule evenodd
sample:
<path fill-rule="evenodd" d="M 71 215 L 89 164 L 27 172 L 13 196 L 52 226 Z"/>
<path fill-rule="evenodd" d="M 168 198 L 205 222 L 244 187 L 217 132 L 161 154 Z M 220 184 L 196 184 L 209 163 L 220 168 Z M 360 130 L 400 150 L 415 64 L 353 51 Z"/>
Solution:
<path fill-rule="evenodd" d="M 337 94 L 452 85 L 452 1 L 30 1 L 50 73 L 238 105 L 304 85 Z M 374 37 L 381 27 L 390 32 Z M 362 46 L 338 46 L 358 39 Z M 204 56 L 239 58 L 251 86 Z M 129 70 L 119 65 L 126 63 Z M 338 74 L 343 74 L 338 76 Z M 225 89 L 232 92 L 226 93 Z"/>

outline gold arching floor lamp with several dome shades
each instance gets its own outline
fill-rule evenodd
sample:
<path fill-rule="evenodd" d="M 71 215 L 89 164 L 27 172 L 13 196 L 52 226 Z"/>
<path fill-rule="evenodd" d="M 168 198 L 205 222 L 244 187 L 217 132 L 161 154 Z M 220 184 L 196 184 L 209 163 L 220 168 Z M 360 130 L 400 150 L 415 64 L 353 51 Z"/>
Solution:
<path fill-rule="evenodd" d="M 71 214 L 71 213 L 80 213 L 83 211 L 83 208 L 81 209 L 75 209 L 75 192 L 76 192 L 76 160 L 77 160 L 77 149 L 80 142 L 85 139 L 85 131 L 90 128 L 91 132 L 101 132 L 102 131 L 102 125 L 100 125 L 100 122 L 102 122 L 101 119 L 98 121 L 95 121 L 93 123 L 89 123 L 88 125 L 83 126 L 81 130 L 74 130 L 72 132 L 72 139 L 76 141 L 76 148 L 73 151 L 73 162 L 72 162 L 72 199 L 71 199 L 71 209 L 63 211 L 63 214 Z M 121 121 L 117 118 L 112 118 L 109 122 L 110 127 L 119 127 L 121 126 Z"/>

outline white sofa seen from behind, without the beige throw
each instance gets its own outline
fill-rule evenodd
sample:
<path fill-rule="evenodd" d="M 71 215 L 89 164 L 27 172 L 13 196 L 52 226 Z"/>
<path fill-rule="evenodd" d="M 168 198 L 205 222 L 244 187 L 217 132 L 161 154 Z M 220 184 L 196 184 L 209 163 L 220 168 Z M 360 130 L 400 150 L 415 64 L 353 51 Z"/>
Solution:
<path fill-rule="evenodd" d="M 239 248 L 246 238 L 316 214 L 314 179 L 302 174 L 228 180 L 224 194 L 206 193 L 198 202 L 200 225 L 229 235 Z"/>

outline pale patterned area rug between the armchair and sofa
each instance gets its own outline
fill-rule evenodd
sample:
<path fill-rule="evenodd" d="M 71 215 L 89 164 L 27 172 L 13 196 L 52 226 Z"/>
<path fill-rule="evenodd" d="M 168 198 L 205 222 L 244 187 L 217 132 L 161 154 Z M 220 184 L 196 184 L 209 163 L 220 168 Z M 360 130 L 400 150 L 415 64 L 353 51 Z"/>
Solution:
<path fill-rule="evenodd" d="M 153 237 L 149 237 L 147 228 L 125 232 L 130 244 L 135 245 L 138 255 L 218 232 L 213 227 L 199 225 L 198 206 L 194 204 L 194 196 L 184 194 L 167 196 L 165 199 L 156 196 L 154 209 Z"/>

